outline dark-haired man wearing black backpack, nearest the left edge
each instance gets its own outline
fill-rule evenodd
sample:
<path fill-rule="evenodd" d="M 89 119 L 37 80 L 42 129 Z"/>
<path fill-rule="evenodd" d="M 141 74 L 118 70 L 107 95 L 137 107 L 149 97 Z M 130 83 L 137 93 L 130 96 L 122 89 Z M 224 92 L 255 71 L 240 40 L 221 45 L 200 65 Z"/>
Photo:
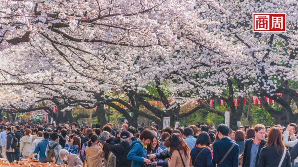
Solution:
<path fill-rule="evenodd" d="M 7 138 L 6 138 L 6 157 L 7 160 L 12 163 L 14 160 L 14 156 L 15 156 L 15 149 L 18 143 L 18 139 L 16 139 L 16 135 L 11 132 L 11 127 L 7 127 L 6 128 L 6 134 L 7 134 Z"/>

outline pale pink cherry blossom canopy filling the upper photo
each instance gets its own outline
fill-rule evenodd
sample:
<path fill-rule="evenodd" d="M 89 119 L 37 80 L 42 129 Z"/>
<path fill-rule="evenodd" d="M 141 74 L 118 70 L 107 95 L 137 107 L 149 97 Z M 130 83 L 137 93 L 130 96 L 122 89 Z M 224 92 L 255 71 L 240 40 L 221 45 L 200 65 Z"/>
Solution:
<path fill-rule="evenodd" d="M 0 1 L 0 52 L 6 55 L 0 63 L 1 103 L 11 108 L 21 100 L 49 100 L 63 106 L 61 110 L 97 106 L 98 115 L 106 104 L 135 125 L 138 116 L 158 124 L 170 116 L 174 122 L 180 105 L 169 100 L 176 96 L 183 97 L 181 105 L 200 102 L 180 118 L 200 108 L 224 116 L 208 105 L 217 97 L 228 105 L 231 127 L 236 128 L 244 97 L 256 94 L 277 123 L 297 122 L 293 104 L 298 99 L 290 85 L 297 82 L 295 4 Z M 287 32 L 252 32 L 253 12 L 287 13 Z M 156 95 L 144 88 L 148 83 Z M 112 89 L 119 94 L 113 95 Z M 264 96 L 282 107 L 267 105 Z M 237 108 L 234 98 L 239 98 Z M 165 108 L 151 106 L 148 99 L 161 101 Z"/>

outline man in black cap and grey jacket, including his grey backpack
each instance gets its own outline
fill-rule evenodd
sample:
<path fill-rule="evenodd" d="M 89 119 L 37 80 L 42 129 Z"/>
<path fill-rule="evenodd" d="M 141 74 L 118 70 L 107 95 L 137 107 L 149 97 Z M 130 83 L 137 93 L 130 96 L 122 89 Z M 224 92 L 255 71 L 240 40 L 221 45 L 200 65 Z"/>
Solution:
<path fill-rule="evenodd" d="M 51 141 L 47 145 L 45 154 L 46 154 L 46 161 L 52 162 L 52 158 L 56 159 L 56 164 L 61 165 L 63 164 L 63 159 L 59 156 L 59 152 L 62 149 L 61 145 L 59 144 L 59 134 L 57 132 L 52 133 Z"/>

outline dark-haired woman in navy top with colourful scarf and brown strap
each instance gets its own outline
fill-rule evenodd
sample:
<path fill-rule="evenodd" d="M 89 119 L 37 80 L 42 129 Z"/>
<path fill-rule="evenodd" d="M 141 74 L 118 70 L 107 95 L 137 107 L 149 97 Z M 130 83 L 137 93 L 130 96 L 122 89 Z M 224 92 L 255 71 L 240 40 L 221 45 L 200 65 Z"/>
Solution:
<path fill-rule="evenodd" d="M 194 167 L 215 167 L 212 163 L 212 150 L 210 136 L 207 132 L 201 132 L 196 139 L 196 146 L 190 152 Z"/>

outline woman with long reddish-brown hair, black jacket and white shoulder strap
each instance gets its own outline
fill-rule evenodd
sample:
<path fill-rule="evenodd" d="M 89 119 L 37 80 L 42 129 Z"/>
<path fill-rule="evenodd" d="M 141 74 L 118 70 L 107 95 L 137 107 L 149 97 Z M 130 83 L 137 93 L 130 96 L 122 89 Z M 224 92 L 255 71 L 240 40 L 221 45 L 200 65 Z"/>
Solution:
<path fill-rule="evenodd" d="M 273 127 L 269 131 L 266 145 L 260 151 L 258 167 L 278 166 L 291 167 L 291 157 L 287 147 L 282 143 L 282 132 Z"/>

